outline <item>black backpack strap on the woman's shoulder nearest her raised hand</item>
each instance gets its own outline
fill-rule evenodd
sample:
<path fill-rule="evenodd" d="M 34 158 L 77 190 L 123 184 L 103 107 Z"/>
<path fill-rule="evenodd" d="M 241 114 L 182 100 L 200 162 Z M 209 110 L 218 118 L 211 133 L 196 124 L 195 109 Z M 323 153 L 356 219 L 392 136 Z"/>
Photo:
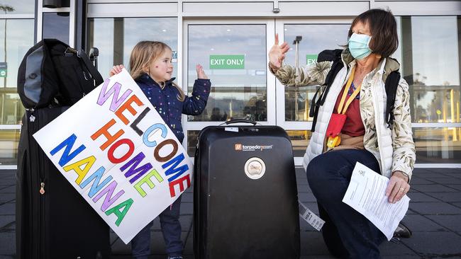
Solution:
<path fill-rule="evenodd" d="M 331 69 L 328 71 L 325 82 L 323 83 L 323 86 L 326 86 L 325 90 L 321 93 L 317 100 L 317 94 L 321 89 L 318 88 L 311 101 L 311 108 L 309 109 L 309 117 L 313 117 L 311 132 L 316 130 L 318 110 L 320 106 L 325 103 L 331 84 L 333 84 L 336 75 L 344 66 L 343 60 L 341 59 L 342 52 L 343 50 L 323 50 L 318 54 L 317 62 L 333 61 L 333 64 L 331 65 Z"/>

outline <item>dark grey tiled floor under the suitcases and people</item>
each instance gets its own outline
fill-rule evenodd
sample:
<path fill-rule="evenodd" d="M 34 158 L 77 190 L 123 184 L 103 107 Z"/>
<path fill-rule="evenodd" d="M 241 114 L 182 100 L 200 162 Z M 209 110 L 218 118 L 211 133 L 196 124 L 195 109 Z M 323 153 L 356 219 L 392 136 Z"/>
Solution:
<path fill-rule="evenodd" d="M 14 258 L 15 251 L 15 171 L 0 171 L 0 258 Z M 296 168 L 299 200 L 317 213 L 306 175 Z M 413 236 L 400 243 L 386 242 L 380 247 L 383 258 L 461 258 L 461 169 L 416 168 L 411 180 L 409 212 L 404 222 Z M 184 258 L 192 251 L 191 189 L 182 197 L 181 224 Z M 166 258 L 160 222 L 152 227 L 152 255 Z M 111 234 L 112 258 L 131 258 L 130 246 Z M 320 232 L 301 221 L 301 258 L 332 258 Z"/>

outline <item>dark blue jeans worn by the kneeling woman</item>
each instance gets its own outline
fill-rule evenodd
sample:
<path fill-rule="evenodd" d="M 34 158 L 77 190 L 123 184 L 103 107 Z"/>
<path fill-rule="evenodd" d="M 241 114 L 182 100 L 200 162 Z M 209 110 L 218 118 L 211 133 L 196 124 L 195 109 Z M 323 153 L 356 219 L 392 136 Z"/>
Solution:
<path fill-rule="evenodd" d="M 379 244 L 386 240 L 371 221 L 342 202 L 355 163 L 379 172 L 378 161 L 366 150 L 329 151 L 307 166 L 306 174 L 317 198 L 320 216 L 326 221 L 322 234 L 328 251 L 339 258 L 380 258 Z"/>

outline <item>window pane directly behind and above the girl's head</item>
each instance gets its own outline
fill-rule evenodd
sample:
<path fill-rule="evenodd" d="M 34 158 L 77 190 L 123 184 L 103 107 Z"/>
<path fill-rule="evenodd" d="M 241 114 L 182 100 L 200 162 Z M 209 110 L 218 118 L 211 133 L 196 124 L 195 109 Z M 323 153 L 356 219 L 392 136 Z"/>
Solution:
<path fill-rule="evenodd" d="M 177 18 L 90 18 L 88 28 L 88 46 L 99 49 L 98 70 L 103 76 L 114 64 L 129 68 L 131 50 L 141 40 L 165 42 L 177 51 Z M 177 62 L 173 69 L 175 76 Z"/>

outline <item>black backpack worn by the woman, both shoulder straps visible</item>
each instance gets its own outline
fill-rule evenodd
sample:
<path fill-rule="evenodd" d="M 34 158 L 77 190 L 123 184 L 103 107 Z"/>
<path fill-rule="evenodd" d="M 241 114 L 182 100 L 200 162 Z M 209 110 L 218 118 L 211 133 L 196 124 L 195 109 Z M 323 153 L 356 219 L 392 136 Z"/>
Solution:
<path fill-rule="evenodd" d="M 318 109 L 321 105 L 323 105 L 323 103 L 325 103 L 326 96 L 328 94 L 328 91 L 330 91 L 331 85 L 333 84 L 336 75 L 344 66 L 343 60 L 341 59 L 342 52 L 343 50 L 323 50 L 318 54 L 317 62 L 333 61 L 333 64 L 331 65 L 330 71 L 326 75 L 325 83 L 323 83 L 323 86 L 326 86 L 325 90 L 317 98 L 318 92 L 321 89 L 318 88 L 316 94 L 313 96 L 311 101 L 311 108 L 309 110 L 309 117 L 313 117 L 311 132 L 314 132 L 316 130 Z M 399 86 L 399 81 L 399 71 L 392 71 L 391 74 L 387 76 L 385 83 L 387 95 L 385 118 L 389 128 L 391 128 L 394 124 L 394 102 L 397 93 L 397 87 Z"/>

